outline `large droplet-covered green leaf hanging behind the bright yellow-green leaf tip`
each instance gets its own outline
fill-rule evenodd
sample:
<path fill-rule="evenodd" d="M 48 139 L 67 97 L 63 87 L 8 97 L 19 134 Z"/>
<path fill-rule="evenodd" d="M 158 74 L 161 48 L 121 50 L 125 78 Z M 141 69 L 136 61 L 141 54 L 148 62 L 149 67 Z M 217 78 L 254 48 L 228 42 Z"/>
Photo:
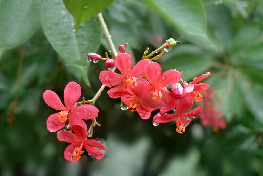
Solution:
<path fill-rule="evenodd" d="M 87 77 L 86 54 L 95 52 L 102 38 L 101 25 L 97 17 L 91 18 L 74 32 L 74 19 L 60 1 L 45 0 L 42 8 L 42 23 L 45 35 L 61 57 L 73 68 L 74 75 Z M 75 70 L 75 71 L 74 71 Z"/>

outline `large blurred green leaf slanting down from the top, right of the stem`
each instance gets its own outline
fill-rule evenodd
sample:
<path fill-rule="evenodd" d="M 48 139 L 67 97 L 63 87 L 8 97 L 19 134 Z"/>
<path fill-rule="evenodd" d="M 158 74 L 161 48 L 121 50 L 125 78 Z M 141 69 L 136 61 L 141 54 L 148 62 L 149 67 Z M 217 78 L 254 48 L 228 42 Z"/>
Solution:
<path fill-rule="evenodd" d="M 199 0 L 145 0 L 145 3 L 184 32 L 183 38 L 216 49 L 207 36 L 205 13 Z"/>

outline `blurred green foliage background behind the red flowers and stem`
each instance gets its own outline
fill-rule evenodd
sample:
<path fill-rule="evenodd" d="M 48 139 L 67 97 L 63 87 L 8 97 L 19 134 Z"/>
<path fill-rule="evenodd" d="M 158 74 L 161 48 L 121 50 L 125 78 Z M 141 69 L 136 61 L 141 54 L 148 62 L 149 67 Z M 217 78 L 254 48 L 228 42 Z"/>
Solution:
<path fill-rule="evenodd" d="M 102 14 L 115 47 L 128 42 L 134 62 L 182 35 L 157 62 L 186 81 L 211 72 L 204 82 L 227 127 L 213 132 L 197 118 L 178 134 L 175 123 L 155 127 L 104 91 L 93 136 L 107 146 L 105 157 L 66 161 L 68 144 L 46 129 L 56 110 L 42 94 L 63 100 L 75 81 L 81 97 L 95 95 L 104 62 L 87 63 L 86 54 L 109 52 L 98 19 L 75 32 L 62 0 L 0 0 L 0 175 L 263 176 L 263 1 L 115 0 Z"/>

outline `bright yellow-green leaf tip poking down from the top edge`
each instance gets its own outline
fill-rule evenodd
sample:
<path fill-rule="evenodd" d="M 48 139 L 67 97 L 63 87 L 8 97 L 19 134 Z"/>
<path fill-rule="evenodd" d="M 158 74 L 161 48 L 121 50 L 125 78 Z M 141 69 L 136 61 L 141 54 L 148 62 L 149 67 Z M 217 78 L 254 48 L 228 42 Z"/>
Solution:
<path fill-rule="evenodd" d="M 94 15 L 105 10 L 114 0 L 63 0 L 67 10 L 76 22 L 76 29 L 79 25 Z"/>

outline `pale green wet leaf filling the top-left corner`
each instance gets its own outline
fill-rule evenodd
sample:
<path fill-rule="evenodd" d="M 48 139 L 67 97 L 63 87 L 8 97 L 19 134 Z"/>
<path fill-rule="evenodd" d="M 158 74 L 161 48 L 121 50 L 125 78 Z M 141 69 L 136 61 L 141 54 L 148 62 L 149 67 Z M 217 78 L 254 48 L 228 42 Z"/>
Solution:
<path fill-rule="evenodd" d="M 0 1 L 0 56 L 19 46 L 40 29 L 43 0 Z"/>

